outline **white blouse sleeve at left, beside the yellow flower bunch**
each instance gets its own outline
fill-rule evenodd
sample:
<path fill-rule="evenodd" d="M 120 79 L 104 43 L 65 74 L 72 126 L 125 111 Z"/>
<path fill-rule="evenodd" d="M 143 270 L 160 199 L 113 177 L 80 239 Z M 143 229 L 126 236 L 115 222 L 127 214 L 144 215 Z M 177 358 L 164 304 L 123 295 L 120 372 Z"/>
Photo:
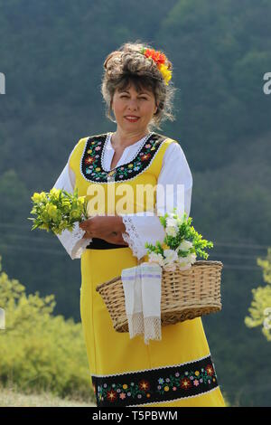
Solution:
<path fill-rule="evenodd" d="M 53 187 L 56 189 L 63 189 L 72 194 L 75 187 L 75 175 L 70 168 L 69 161 L 70 157 Z M 65 250 L 67 250 L 71 260 L 79 259 L 83 251 L 86 250 L 89 245 L 89 242 L 92 241 L 91 238 L 82 239 L 84 234 L 85 231 L 79 228 L 79 222 L 75 222 L 73 231 L 65 230 L 62 231 L 61 234 L 56 235 Z"/>

